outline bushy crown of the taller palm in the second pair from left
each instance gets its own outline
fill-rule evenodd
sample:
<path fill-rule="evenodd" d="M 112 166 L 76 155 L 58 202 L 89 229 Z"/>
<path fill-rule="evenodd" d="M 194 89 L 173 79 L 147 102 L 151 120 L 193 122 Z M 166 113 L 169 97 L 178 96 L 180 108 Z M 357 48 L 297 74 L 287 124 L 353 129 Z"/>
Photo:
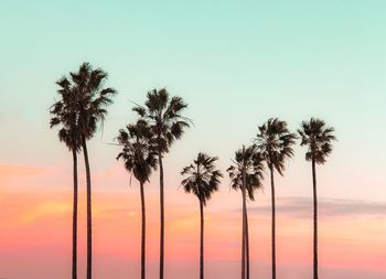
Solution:
<path fill-rule="evenodd" d="M 181 97 L 170 98 L 165 88 L 153 89 L 148 93 L 148 99 L 144 107 L 133 108 L 138 115 L 146 119 L 153 135 L 161 153 L 168 152 L 174 140 L 181 138 L 184 128 L 189 128 L 189 119 L 181 115 L 187 105 Z"/>

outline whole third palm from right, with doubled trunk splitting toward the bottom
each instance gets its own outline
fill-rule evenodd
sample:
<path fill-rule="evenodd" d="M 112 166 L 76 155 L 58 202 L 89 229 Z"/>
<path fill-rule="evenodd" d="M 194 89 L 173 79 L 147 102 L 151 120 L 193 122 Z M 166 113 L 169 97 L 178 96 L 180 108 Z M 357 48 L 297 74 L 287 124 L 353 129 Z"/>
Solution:
<path fill-rule="evenodd" d="M 249 279 L 249 234 L 248 212 L 246 200 L 255 200 L 255 190 L 260 189 L 264 179 L 262 157 L 251 146 L 237 150 L 234 164 L 227 169 L 230 179 L 230 186 L 242 190 L 243 195 L 243 246 L 242 246 L 242 279 Z"/>

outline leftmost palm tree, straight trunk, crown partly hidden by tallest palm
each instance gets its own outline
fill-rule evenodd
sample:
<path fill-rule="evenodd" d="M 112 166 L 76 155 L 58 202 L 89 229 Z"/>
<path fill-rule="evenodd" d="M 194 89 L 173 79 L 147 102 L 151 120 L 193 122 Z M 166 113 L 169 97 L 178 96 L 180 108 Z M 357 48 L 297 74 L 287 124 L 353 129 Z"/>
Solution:
<path fill-rule="evenodd" d="M 72 278 L 77 278 L 77 200 L 78 200 L 78 181 L 77 181 L 77 153 L 81 151 L 81 131 L 77 125 L 76 107 L 74 106 L 74 92 L 69 82 L 63 77 L 56 84 L 60 86 L 57 94 L 60 100 L 51 107 L 50 128 L 60 126 L 58 138 L 64 142 L 73 154 L 73 259 L 72 259 Z"/>

